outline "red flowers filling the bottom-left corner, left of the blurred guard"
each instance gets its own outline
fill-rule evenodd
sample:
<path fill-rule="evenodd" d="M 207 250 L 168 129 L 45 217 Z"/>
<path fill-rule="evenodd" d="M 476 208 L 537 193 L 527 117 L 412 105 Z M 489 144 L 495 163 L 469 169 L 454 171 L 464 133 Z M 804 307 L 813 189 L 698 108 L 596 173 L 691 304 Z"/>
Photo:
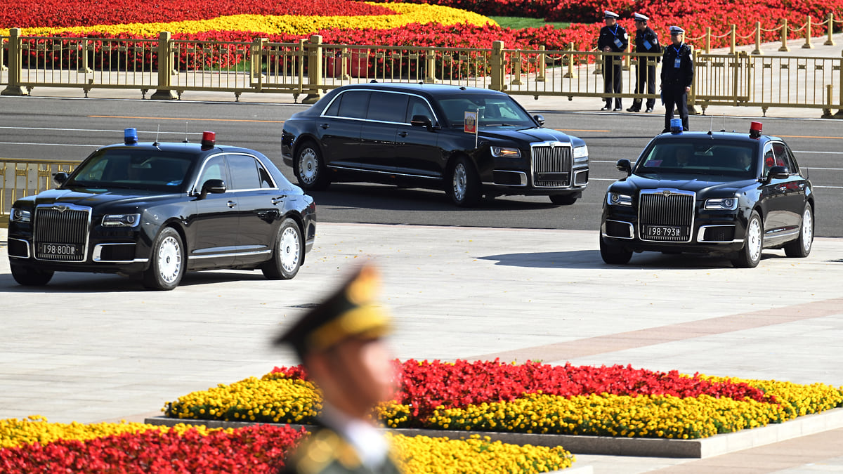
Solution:
<path fill-rule="evenodd" d="M 304 434 L 287 425 L 257 425 L 215 431 L 190 429 L 184 434 L 150 430 L 88 441 L 60 440 L 0 450 L 0 472 L 277 472 L 284 455 Z"/>

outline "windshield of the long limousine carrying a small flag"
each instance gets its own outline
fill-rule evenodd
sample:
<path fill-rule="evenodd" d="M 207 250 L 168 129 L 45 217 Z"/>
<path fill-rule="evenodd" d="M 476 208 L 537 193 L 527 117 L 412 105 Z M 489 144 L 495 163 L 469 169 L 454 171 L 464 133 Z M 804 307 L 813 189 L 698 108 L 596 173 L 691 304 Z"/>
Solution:
<path fill-rule="evenodd" d="M 533 119 L 508 95 L 467 94 L 439 100 L 451 127 L 463 127 L 465 112 L 477 113 L 479 127 L 535 127 Z"/>

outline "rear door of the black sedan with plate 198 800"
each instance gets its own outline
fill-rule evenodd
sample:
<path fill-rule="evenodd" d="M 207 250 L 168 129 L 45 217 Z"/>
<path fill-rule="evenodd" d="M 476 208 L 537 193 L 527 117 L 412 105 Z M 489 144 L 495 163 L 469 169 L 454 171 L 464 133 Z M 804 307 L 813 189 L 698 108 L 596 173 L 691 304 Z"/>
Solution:
<path fill-rule="evenodd" d="M 269 258 L 283 207 L 282 196 L 266 168 L 250 154 L 227 154 L 230 192 L 237 196 L 238 231 L 234 265 Z"/>

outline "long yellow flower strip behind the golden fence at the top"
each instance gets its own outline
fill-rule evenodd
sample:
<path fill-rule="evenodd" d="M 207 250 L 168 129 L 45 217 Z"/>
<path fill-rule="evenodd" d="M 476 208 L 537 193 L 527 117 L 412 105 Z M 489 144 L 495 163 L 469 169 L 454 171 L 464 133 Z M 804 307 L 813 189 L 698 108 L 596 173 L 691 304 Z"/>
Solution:
<path fill-rule="evenodd" d="M 175 21 L 172 23 L 98 24 L 72 28 L 24 28 L 24 36 L 50 36 L 59 33 L 80 35 L 92 31 L 119 35 L 158 35 L 161 31 L 170 33 L 196 34 L 203 31 L 255 31 L 267 35 L 309 35 L 329 29 L 384 29 L 391 30 L 405 24 L 497 24 L 494 20 L 477 13 L 441 5 L 413 3 L 373 3 L 394 10 L 397 15 L 371 16 L 298 16 L 298 15 L 231 15 L 207 20 Z M 8 30 L 3 35 L 8 35 Z"/>

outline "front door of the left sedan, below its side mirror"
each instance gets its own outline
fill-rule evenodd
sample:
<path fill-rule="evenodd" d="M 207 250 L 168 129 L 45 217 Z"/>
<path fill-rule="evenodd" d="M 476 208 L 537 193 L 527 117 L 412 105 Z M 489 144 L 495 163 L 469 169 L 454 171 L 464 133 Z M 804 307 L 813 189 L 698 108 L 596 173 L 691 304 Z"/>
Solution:
<path fill-rule="evenodd" d="M 228 167 L 222 154 L 206 159 L 193 193 L 198 195 L 207 180 L 223 180 L 228 186 Z M 234 263 L 239 217 L 237 196 L 226 191 L 196 198 L 196 213 L 187 226 L 190 268 L 228 267 Z"/>

